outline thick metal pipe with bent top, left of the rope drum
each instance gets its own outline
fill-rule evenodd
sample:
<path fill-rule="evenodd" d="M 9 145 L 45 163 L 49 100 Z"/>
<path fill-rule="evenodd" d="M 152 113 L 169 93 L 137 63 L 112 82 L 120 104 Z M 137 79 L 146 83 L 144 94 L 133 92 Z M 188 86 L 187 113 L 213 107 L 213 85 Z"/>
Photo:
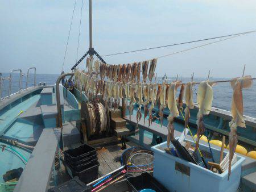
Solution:
<path fill-rule="evenodd" d="M 56 102 L 57 102 L 57 127 L 62 128 L 62 117 L 61 117 L 61 108 L 60 108 L 60 81 L 63 77 L 73 76 L 74 73 L 64 73 L 61 74 L 56 81 Z"/>

